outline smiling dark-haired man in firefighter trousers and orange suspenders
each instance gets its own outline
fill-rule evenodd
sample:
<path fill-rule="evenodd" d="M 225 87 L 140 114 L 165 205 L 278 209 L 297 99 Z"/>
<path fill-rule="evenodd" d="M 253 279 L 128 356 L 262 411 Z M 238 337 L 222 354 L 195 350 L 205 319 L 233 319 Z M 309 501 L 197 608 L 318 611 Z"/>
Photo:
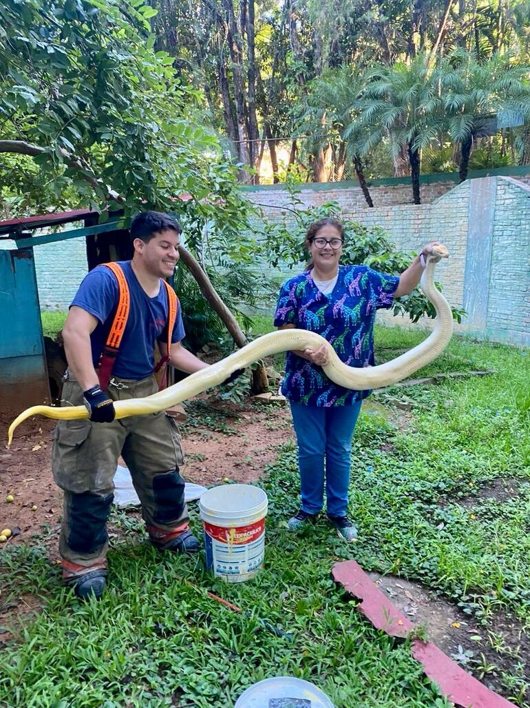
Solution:
<path fill-rule="evenodd" d="M 114 420 L 114 401 L 158 390 L 157 344 L 163 360 L 181 371 L 208 366 L 182 347 L 180 306 L 163 280 L 177 265 L 181 233 L 180 224 L 160 212 L 134 217 L 132 260 L 90 271 L 66 318 L 63 405 L 84 403 L 90 416 L 58 423 L 52 466 L 64 490 L 63 578 L 80 598 L 99 598 L 105 588 L 106 523 L 119 455 L 131 472 L 151 543 L 161 551 L 199 551 L 189 530 L 179 474 L 184 458 L 172 418 L 160 412 Z"/>

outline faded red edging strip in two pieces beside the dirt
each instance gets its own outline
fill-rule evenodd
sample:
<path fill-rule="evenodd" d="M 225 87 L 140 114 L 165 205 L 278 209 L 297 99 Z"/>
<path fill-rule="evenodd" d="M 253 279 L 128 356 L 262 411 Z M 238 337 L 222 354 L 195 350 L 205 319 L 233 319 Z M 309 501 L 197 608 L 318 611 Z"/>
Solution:
<path fill-rule="evenodd" d="M 336 563 L 334 580 L 348 593 L 363 600 L 359 610 L 377 629 L 390 636 L 406 637 L 414 625 L 392 605 L 355 561 Z M 413 641 L 412 656 L 423 664 L 425 673 L 440 687 L 448 700 L 463 708 L 516 708 L 452 661 L 432 641 Z"/>

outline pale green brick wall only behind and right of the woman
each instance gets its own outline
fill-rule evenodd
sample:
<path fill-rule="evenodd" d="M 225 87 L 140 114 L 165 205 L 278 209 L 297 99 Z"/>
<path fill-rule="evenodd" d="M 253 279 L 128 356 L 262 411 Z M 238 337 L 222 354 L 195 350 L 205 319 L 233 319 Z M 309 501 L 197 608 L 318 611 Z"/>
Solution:
<path fill-rule="evenodd" d="M 489 211 L 482 202 L 482 183 L 493 188 L 493 203 L 488 203 Z M 387 191 L 389 188 L 382 187 L 380 195 L 385 197 L 384 204 L 374 208 L 360 203 L 355 188 L 340 189 L 329 185 L 326 190 L 302 190 L 299 196 L 307 205 L 338 201 L 343 205 L 344 217 L 353 218 L 366 227 L 382 227 L 402 251 L 418 251 L 428 241 L 442 241 L 451 255 L 449 261 L 442 261 L 437 266 L 436 278 L 441 282 L 449 302 L 454 307 L 467 305 L 466 309 L 469 307 L 470 313 L 461 325 L 455 324 L 455 329 L 488 337 L 493 341 L 529 346 L 529 184 L 530 178 L 515 180 L 506 176 L 478 178 L 457 186 L 449 185 L 449 189 L 447 183 L 432 184 L 428 185 L 431 188 L 429 192 L 423 189 L 421 205 L 391 203 L 392 200 L 399 202 L 399 195 L 403 195 L 403 185 L 391 188 L 394 191 L 390 192 Z M 473 198 L 471 185 L 475 186 Z M 427 195 L 437 196 L 429 201 Z M 269 219 L 280 219 L 281 207 L 290 206 L 288 193 L 278 188 L 260 188 L 249 192 L 249 197 L 256 203 L 273 205 L 274 208 L 265 211 Z M 288 218 L 288 212 L 284 211 L 283 214 Z M 473 218 L 483 216 L 484 223 L 470 224 L 470 214 Z M 473 245 L 478 251 L 481 248 L 490 249 L 491 258 L 487 259 L 490 273 L 484 273 L 481 269 L 483 261 L 471 265 L 469 263 L 470 239 L 482 239 L 483 232 L 488 232 L 484 246 L 474 241 Z M 267 277 L 278 280 L 289 278 L 296 272 L 296 269 L 289 270 L 281 266 L 276 270 L 265 265 L 256 268 L 257 275 L 265 273 Z M 478 285 L 484 279 L 485 288 L 479 288 Z M 478 307 L 473 307 L 476 300 L 479 301 Z M 484 321 L 478 317 L 481 308 L 485 314 Z M 378 318 L 385 324 L 410 324 L 408 319 L 395 317 L 386 311 L 379 312 Z M 430 326 L 431 322 L 424 320 L 422 324 Z"/>

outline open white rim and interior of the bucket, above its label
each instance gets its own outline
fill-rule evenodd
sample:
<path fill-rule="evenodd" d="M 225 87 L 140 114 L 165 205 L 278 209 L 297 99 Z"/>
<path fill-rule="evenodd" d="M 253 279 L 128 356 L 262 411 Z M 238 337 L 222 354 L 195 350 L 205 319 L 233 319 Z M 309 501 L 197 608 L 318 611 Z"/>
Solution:
<path fill-rule="evenodd" d="M 230 519 L 266 512 L 267 495 L 252 484 L 223 484 L 208 489 L 199 501 L 201 513 Z"/>

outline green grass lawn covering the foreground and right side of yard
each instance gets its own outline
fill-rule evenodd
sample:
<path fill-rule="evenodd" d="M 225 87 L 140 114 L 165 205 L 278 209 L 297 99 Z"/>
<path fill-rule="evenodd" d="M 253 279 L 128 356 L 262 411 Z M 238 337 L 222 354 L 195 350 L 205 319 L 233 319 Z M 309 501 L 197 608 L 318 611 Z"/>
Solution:
<path fill-rule="evenodd" d="M 256 333 L 268 327 L 260 326 Z M 421 338 L 377 328 L 379 360 Z M 122 539 L 100 603 L 78 603 L 61 588 L 45 535 L 31 548 L 4 549 L 1 599 L 37 595 L 42 609 L 1 650 L 0 705 L 230 708 L 261 678 L 295 675 L 317 683 L 336 708 L 447 708 L 406 643 L 373 629 L 334 586 L 331 566 L 354 558 L 365 570 L 420 581 L 473 617 L 498 661 L 479 649 L 462 661 L 528 707 L 527 657 L 503 640 L 502 618 L 530 629 L 529 365 L 527 350 L 455 338 L 427 373 L 497 373 L 373 396 L 379 405 L 361 414 L 352 455 L 357 544 L 324 521 L 288 533 L 298 474 L 295 448 L 283 448 L 261 480 L 270 505 L 266 567 L 249 583 L 215 582 L 194 559 L 160 559 L 123 512 L 114 515 Z M 394 408 L 404 399 L 406 413 Z M 517 493 L 482 493 L 498 479 L 516 480 Z M 192 522 L 199 530 L 196 511 Z"/>

